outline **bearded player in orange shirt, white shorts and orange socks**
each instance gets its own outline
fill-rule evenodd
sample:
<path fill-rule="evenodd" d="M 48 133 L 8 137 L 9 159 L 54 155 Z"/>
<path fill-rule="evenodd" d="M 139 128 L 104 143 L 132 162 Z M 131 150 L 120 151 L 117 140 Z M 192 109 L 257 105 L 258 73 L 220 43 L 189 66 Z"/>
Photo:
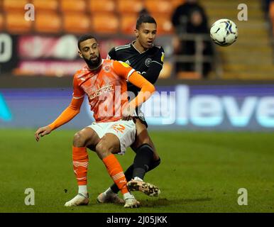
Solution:
<path fill-rule="evenodd" d="M 48 126 L 38 128 L 35 139 L 48 135 L 55 128 L 72 120 L 80 112 L 87 94 L 95 122 L 75 133 L 72 146 L 73 169 L 78 183 L 78 194 L 65 206 L 87 205 L 87 147 L 94 148 L 104 162 L 106 170 L 121 189 L 124 207 L 138 207 L 139 202 L 126 188 L 124 171 L 114 154 L 124 153 L 136 135 L 133 114 L 155 91 L 153 84 L 124 62 L 103 60 L 97 39 L 82 35 L 78 40 L 79 55 L 87 63 L 73 78 L 73 94 L 70 105 Z M 126 80 L 141 88 L 135 99 L 128 103 Z"/>

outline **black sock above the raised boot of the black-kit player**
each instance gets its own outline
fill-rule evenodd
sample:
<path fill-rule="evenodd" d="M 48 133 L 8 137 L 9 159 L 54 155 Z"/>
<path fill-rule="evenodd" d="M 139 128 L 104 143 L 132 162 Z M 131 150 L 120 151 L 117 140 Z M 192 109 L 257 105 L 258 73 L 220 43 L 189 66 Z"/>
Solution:
<path fill-rule="evenodd" d="M 149 169 L 150 163 L 153 161 L 153 148 L 148 144 L 143 144 L 136 150 L 136 156 L 134 158 L 133 177 L 139 177 L 143 179 L 145 173 Z"/>

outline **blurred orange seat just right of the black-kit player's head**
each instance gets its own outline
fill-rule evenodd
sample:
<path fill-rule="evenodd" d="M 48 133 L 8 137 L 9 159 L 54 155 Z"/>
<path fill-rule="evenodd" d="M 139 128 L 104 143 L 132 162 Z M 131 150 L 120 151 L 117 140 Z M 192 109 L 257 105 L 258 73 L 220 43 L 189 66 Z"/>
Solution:
<path fill-rule="evenodd" d="M 155 18 L 155 21 L 157 23 L 158 35 L 172 34 L 174 32 L 172 23 L 170 21 L 170 16 L 158 13 L 152 13 L 151 16 Z"/>

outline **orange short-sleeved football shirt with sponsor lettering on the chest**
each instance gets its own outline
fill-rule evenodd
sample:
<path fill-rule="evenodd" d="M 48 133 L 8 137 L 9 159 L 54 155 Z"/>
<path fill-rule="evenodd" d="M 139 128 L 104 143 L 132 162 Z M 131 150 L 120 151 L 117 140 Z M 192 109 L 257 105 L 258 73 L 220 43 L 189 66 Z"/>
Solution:
<path fill-rule="evenodd" d="M 98 70 L 87 66 L 77 71 L 73 79 L 73 97 L 87 94 L 96 122 L 121 119 L 121 109 L 127 103 L 126 79 L 134 72 L 124 62 L 102 60 Z"/>

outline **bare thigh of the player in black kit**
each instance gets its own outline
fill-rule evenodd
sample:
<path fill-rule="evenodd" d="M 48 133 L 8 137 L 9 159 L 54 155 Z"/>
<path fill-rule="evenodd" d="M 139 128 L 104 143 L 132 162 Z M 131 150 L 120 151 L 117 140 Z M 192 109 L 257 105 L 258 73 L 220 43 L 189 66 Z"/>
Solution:
<path fill-rule="evenodd" d="M 153 148 L 154 159 L 158 160 L 159 155 L 156 152 L 153 141 L 151 140 L 150 136 L 148 135 L 148 130 L 147 130 L 146 126 L 138 118 L 136 118 L 135 125 L 136 125 L 136 138 L 135 138 L 134 143 L 131 145 L 131 148 L 133 150 L 136 150 L 141 145 L 148 144 Z"/>

